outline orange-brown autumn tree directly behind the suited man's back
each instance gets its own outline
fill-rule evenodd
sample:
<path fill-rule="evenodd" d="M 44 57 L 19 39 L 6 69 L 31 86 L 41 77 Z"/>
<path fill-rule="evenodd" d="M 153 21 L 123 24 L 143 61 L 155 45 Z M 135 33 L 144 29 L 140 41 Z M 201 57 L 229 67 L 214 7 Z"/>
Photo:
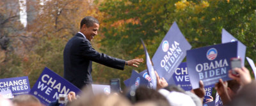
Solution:
<path fill-rule="evenodd" d="M 38 44 L 31 51 L 30 63 L 24 66 L 31 67 L 24 71 L 31 72 L 29 77 L 32 79 L 32 84 L 40 76 L 44 67 L 63 76 L 65 44 L 79 31 L 80 21 L 85 16 L 91 15 L 100 19 L 96 5 L 82 0 L 56 0 L 46 1 L 44 5 L 38 4 L 37 10 L 40 13 L 31 25 L 32 29 L 29 29 Z"/>

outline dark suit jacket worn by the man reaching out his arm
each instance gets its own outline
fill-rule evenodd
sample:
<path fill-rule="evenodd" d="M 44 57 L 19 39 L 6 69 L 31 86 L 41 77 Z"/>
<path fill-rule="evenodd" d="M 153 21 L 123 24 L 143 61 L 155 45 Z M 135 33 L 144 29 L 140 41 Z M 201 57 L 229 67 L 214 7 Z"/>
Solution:
<path fill-rule="evenodd" d="M 79 33 L 66 44 L 63 58 L 64 78 L 80 89 L 92 84 L 92 61 L 120 70 L 124 70 L 125 65 L 125 60 L 94 50 L 90 41 Z"/>

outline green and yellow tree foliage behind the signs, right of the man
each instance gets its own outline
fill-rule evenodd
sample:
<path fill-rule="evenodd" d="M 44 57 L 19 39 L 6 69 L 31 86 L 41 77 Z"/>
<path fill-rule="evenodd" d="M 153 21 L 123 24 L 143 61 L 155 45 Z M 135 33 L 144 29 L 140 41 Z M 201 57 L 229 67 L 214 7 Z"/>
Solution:
<path fill-rule="evenodd" d="M 104 50 L 121 46 L 127 56 L 145 57 L 140 38 L 145 41 L 150 57 L 174 21 L 193 46 L 199 48 L 221 43 L 224 28 L 247 46 L 246 56 L 256 58 L 255 1 L 106 1 L 100 11 L 107 14 L 100 43 Z M 130 21 L 132 20 L 132 21 Z M 248 65 L 247 65 L 248 66 Z M 142 71 L 145 67 L 140 67 Z"/>

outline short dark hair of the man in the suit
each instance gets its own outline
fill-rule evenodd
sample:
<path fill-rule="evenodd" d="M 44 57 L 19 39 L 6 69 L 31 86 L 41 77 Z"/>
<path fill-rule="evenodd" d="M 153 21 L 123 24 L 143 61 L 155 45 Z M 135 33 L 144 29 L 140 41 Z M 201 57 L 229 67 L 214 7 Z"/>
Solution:
<path fill-rule="evenodd" d="M 83 20 L 81 20 L 80 29 L 82 29 L 84 24 L 86 27 L 92 27 L 94 23 L 99 24 L 99 21 L 94 17 L 84 17 Z"/>

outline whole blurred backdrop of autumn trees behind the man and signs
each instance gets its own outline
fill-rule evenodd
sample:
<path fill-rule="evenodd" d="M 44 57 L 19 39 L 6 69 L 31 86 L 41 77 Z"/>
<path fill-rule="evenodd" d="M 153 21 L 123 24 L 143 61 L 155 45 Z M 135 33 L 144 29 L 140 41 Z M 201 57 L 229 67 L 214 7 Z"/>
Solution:
<path fill-rule="evenodd" d="M 145 60 L 140 38 L 152 58 L 173 22 L 193 48 L 220 44 L 224 28 L 256 59 L 255 0 L 0 0 L 0 79 L 29 76 L 33 87 L 44 67 L 63 76 L 65 44 L 86 16 L 100 22 L 93 48 L 124 60 Z M 145 63 L 124 71 L 93 63 L 93 81 L 122 82 Z"/>

